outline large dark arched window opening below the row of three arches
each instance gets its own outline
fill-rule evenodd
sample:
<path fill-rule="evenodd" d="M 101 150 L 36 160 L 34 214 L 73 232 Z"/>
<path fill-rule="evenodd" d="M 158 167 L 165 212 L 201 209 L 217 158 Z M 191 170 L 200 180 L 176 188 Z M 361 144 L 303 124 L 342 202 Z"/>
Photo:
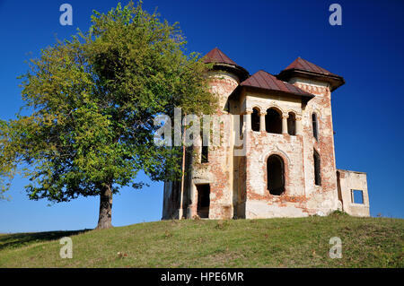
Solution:
<path fill-rule="evenodd" d="M 285 192 L 284 160 L 278 155 L 271 155 L 267 160 L 268 190 L 271 195 Z"/>

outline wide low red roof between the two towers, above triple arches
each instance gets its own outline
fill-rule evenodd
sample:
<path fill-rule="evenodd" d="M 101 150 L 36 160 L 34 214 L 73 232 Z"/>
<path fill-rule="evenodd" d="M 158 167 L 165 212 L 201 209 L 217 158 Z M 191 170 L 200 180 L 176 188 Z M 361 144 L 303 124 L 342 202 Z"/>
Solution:
<path fill-rule="evenodd" d="M 274 75 L 268 74 L 265 71 L 258 71 L 252 74 L 247 80 L 242 82 L 242 86 L 250 86 L 268 91 L 284 91 L 287 93 L 293 93 L 300 96 L 313 97 L 311 93 L 302 91 L 295 87 L 293 84 L 282 82 L 278 80 Z"/>

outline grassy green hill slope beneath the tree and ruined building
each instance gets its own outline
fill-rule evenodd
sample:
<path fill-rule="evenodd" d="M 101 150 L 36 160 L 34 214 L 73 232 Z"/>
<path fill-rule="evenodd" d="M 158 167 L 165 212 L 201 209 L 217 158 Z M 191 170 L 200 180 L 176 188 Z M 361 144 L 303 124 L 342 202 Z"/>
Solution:
<path fill-rule="evenodd" d="M 59 238 L 73 239 L 61 259 Z M 329 258 L 329 238 L 342 258 Z M 110 230 L 0 235 L 0 267 L 403 267 L 404 220 L 347 215 L 155 221 Z"/>

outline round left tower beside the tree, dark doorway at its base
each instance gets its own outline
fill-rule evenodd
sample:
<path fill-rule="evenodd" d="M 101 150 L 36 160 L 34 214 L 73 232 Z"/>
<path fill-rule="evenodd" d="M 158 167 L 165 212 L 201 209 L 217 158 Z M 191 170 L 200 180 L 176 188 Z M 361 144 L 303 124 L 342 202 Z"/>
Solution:
<path fill-rule="evenodd" d="M 204 57 L 206 64 L 213 64 L 207 74 L 210 91 L 219 100 L 217 115 L 226 134 L 233 134 L 233 118 L 229 115 L 228 99 L 240 82 L 249 77 L 249 73 L 224 55 L 219 48 L 212 49 Z M 179 182 L 165 182 L 163 219 L 201 218 L 222 219 L 233 217 L 233 137 L 222 138 L 225 144 L 220 146 L 194 146 L 186 156 L 186 178 L 181 191 Z M 180 206 L 180 196 L 182 205 Z M 182 210 L 180 210 L 182 208 Z"/>

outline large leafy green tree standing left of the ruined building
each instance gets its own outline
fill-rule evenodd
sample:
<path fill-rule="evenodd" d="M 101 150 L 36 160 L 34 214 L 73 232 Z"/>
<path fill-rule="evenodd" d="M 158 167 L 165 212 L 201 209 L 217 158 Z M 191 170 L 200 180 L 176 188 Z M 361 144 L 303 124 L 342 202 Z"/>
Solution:
<path fill-rule="evenodd" d="M 33 200 L 99 195 L 104 229 L 112 195 L 143 186 L 140 170 L 152 180 L 180 178 L 181 149 L 154 145 L 153 117 L 175 107 L 209 114 L 217 102 L 208 66 L 185 45 L 177 23 L 131 2 L 94 12 L 87 32 L 41 50 L 21 76 L 29 115 L 0 122 L 1 192 L 18 171 Z"/>

